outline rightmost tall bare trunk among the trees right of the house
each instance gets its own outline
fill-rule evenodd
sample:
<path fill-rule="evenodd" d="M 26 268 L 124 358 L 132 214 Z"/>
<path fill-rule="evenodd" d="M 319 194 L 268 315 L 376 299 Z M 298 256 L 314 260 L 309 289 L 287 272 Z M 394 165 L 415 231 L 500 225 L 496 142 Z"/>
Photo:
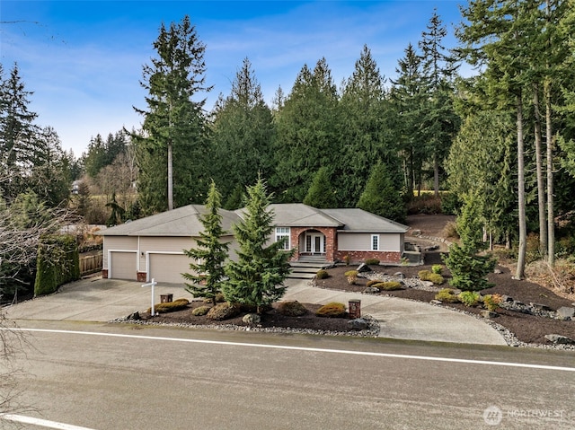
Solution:
<path fill-rule="evenodd" d="M 547 138 L 547 259 L 549 266 L 555 265 L 555 215 L 553 208 L 553 127 L 551 106 L 551 83 L 544 84 L 545 128 Z"/>

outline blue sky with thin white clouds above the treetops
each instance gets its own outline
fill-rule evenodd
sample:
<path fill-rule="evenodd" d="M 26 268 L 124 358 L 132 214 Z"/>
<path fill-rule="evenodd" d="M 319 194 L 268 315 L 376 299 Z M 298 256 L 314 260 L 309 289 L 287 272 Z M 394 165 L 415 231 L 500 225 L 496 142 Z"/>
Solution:
<path fill-rule="evenodd" d="M 26 1 L 0 2 L 0 62 L 17 62 L 37 123 L 56 129 L 77 156 L 90 138 L 139 127 L 133 106 L 146 108 L 139 81 L 155 55 L 162 22 L 190 15 L 206 44 L 211 110 L 227 95 L 248 57 L 266 101 L 288 93 L 305 64 L 325 57 L 336 84 L 349 77 L 364 44 L 386 77 L 433 10 L 447 25 L 448 46 L 461 1 Z"/>

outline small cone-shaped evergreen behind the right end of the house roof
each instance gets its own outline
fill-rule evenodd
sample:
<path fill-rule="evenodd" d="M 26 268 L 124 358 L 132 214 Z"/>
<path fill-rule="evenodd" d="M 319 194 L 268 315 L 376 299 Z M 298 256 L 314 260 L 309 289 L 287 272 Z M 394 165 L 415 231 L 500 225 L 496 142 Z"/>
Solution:
<path fill-rule="evenodd" d="M 391 220 L 403 223 L 406 210 L 393 175 L 383 162 L 377 162 L 369 175 L 366 189 L 358 200 L 358 207 Z"/>

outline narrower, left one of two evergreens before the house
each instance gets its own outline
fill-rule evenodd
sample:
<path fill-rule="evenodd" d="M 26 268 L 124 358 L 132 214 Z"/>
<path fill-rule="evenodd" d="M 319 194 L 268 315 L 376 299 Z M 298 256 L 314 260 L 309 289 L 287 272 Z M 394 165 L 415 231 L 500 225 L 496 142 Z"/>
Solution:
<path fill-rule="evenodd" d="M 227 259 L 228 244 L 222 242 L 222 215 L 219 214 L 221 195 L 216 183 L 212 180 L 206 210 L 208 213 L 200 218 L 204 231 L 199 233 L 197 247 L 184 250 L 192 259 L 190 273 L 182 273 L 192 284 L 186 283 L 186 290 L 194 297 L 205 297 L 216 304 L 216 295 L 221 291 L 221 283 L 226 275 L 224 263 Z"/>

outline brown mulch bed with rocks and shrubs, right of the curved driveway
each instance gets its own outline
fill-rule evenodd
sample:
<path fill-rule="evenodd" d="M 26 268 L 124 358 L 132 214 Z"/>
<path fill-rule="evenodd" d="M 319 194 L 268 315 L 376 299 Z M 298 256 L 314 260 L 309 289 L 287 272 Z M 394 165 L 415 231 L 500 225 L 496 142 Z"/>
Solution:
<path fill-rule="evenodd" d="M 375 271 L 385 273 L 387 275 L 394 275 L 396 272 L 401 272 L 405 277 L 417 277 L 420 270 L 430 270 L 432 264 L 437 264 L 440 260 L 438 253 L 429 253 L 424 266 L 414 267 L 373 267 Z M 330 277 L 323 280 L 316 281 L 316 285 L 323 288 L 330 288 L 341 291 L 349 291 L 360 293 L 366 288 L 367 280 L 358 277 L 356 285 L 349 285 L 347 278 L 343 275 L 346 271 L 354 269 L 355 267 L 338 267 L 328 270 Z M 490 282 L 495 286 L 482 290 L 481 294 L 501 294 L 509 295 L 515 300 L 529 304 L 540 303 L 557 310 L 562 306 L 573 307 L 573 301 L 544 288 L 541 285 L 528 282 L 526 280 L 517 281 L 512 279 L 512 274 L 508 268 L 499 267 L 501 274 L 491 274 L 488 276 Z M 447 270 L 447 269 L 446 269 Z M 444 273 L 447 285 L 450 275 Z M 435 294 L 429 291 L 423 291 L 413 288 L 405 288 L 403 290 L 383 292 L 381 294 L 400 297 L 403 299 L 417 300 L 420 302 L 429 303 L 435 298 Z M 444 306 L 453 308 L 461 312 L 470 312 L 479 315 L 482 307 L 466 307 L 463 303 L 444 303 Z M 494 318 L 493 322 L 509 329 L 518 340 L 526 343 L 551 345 L 551 342 L 544 338 L 545 335 L 559 334 L 567 338 L 575 339 L 575 321 L 573 320 L 552 320 L 550 318 L 529 315 L 521 312 L 511 312 L 505 309 L 498 310 L 499 317 Z"/>

